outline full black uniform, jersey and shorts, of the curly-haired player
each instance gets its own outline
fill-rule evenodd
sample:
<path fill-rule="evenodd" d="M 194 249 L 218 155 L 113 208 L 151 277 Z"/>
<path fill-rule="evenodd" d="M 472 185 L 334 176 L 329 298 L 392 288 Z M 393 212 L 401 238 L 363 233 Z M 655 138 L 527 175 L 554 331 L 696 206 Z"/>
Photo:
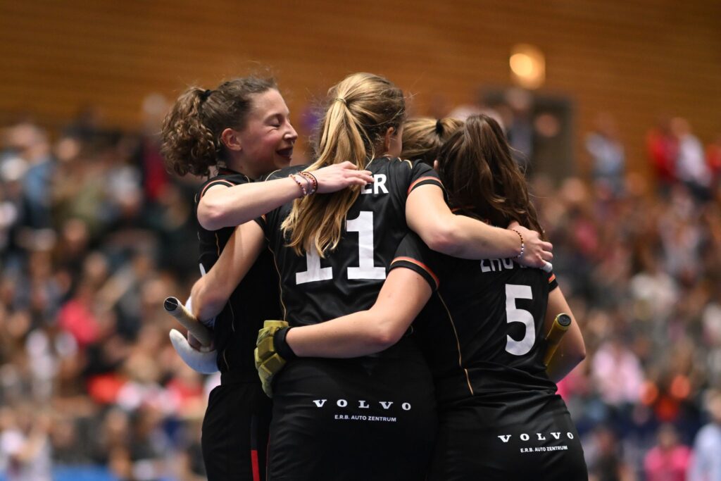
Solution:
<path fill-rule="evenodd" d="M 196 219 L 200 198 L 209 187 L 247 182 L 251 181 L 245 175 L 220 169 L 195 195 Z M 198 226 L 201 273 L 211 270 L 233 231 Z M 201 444 L 209 481 L 265 480 L 272 404 L 260 387 L 253 350 L 263 321 L 279 315 L 278 276 L 270 252 L 263 252 L 213 325 L 221 385 L 211 391 L 203 418 Z"/>

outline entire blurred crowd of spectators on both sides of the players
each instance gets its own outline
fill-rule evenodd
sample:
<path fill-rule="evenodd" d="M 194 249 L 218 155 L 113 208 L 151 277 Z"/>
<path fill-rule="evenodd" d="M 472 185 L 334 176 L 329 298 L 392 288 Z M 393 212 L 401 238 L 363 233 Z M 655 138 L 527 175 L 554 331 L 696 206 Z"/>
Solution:
<path fill-rule="evenodd" d="M 167 107 L 148 97 L 134 133 L 92 108 L 0 130 L 0 479 L 204 479 L 218 378 L 162 308 L 199 274 L 200 179 L 164 170 Z M 593 480 L 721 480 L 721 138 L 675 118 L 646 141 L 652 175 L 627 172 L 600 115 L 588 178 L 530 178 L 588 349 L 559 392 Z"/>

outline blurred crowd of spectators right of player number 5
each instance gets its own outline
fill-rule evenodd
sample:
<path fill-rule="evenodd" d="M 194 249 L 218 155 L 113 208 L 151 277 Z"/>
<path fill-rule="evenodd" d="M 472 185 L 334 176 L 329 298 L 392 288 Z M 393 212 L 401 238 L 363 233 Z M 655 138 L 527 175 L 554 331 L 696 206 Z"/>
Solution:
<path fill-rule="evenodd" d="M 586 361 L 559 385 L 593 480 L 721 480 L 721 139 L 684 118 L 626 170 L 614 120 L 585 138 L 588 182 L 532 181 Z"/>

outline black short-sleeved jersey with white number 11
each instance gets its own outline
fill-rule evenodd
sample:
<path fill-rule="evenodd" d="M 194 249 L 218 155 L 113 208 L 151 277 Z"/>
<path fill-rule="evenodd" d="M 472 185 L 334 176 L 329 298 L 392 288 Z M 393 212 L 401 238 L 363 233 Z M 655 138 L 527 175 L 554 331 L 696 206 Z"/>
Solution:
<path fill-rule="evenodd" d="M 289 167 L 270 178 L 301 169 Z M 324 257 L 314 250 L 297 255 L 286 246 L 280 225 L 292 203 L 257 220 L 278 265 L 283 319 L 291 325 L 317 324 L 370 308 L 407 233 L 408 195 L 421 185 L 441 186 L 433 169 L 419 162 L 379 157 L 366 169 L 375 181 L 361 189 L 343 221 L 340 243 Z"/>

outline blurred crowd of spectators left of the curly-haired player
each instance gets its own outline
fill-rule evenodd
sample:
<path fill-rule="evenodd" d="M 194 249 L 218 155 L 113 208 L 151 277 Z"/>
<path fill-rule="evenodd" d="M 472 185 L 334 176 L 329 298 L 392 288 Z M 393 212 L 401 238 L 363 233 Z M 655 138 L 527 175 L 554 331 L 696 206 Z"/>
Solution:
<path fill-rule="evenodd" d="M 198 275 L 199 180 L 164 170 L 159 121 L 107 131 L 92 110 L 48 131 L 6 126 L 0 151 L 0 472 L 58 479 L 204 479 L 205 379 L 162 308 Z M 103 477 L 105 476 L 105 477 Z M 80 479 L 69 471 L 67 479 Z"/>

